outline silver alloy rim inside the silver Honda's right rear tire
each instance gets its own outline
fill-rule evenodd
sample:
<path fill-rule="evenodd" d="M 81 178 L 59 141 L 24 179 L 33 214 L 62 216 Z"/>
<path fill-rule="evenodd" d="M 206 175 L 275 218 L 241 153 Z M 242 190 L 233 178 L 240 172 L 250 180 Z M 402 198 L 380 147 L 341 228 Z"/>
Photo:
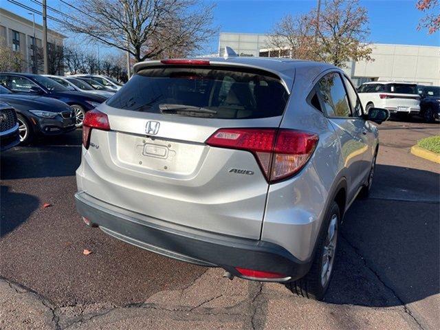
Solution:
<path fill-rule="evenodd" d="M 338 243 L 338 214 L 333 214 L 330 219 L 327 237 L 322 249 L 321 285 L 326 287 L 329 283 L 333 263 L 335 261 L 336 244 Z"/>

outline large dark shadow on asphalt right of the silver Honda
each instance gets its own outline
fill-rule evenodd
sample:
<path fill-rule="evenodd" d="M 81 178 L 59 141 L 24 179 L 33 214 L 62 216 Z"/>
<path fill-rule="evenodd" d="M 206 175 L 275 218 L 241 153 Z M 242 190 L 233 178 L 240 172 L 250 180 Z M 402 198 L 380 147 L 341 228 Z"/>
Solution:
<path fill-rule="evenodd" d="M 439 174 L 377 166 L 342 225 L 328 303 L 391 307 L 440 292 Z"/>

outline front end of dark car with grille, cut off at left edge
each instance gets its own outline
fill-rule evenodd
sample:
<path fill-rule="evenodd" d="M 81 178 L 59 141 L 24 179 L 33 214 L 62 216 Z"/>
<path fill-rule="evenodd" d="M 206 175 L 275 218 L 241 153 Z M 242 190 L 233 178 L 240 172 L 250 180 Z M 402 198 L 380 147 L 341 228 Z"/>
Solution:
<path fill-rule="evenodd" d="M 17 114 L 10 104 L 0 101 L 0 151 L 6 151 L 19 143 Z"/>

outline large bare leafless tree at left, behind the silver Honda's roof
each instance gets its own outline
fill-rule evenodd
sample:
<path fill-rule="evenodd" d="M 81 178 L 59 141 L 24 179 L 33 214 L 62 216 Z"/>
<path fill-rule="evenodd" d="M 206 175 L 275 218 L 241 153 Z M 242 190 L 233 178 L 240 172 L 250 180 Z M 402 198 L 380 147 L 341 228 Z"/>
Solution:
<path fill-rule="evenodd" d="M 200 50 L 214 34 L 213 5 L 201 0 L 76 0 L 65 28 L 120 50 L 136 62 Z M 85 9 L 87 8 L 87 10 Z"/>

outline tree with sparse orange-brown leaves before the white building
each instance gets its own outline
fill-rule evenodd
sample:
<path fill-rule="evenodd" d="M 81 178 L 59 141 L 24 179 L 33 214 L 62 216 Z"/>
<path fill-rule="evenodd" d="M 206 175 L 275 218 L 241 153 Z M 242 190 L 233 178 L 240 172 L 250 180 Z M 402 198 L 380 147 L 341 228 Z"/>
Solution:
<path fill-rule="evenodd" d="M 327 0 L 317 19 L 316 10 L 285 17 L 270 38 L 274 47 L 288 47 L 292 57 L 322 61 L 338 67 L 350 60 L 371 61 L 368 15 L 358 0 Z"/>

